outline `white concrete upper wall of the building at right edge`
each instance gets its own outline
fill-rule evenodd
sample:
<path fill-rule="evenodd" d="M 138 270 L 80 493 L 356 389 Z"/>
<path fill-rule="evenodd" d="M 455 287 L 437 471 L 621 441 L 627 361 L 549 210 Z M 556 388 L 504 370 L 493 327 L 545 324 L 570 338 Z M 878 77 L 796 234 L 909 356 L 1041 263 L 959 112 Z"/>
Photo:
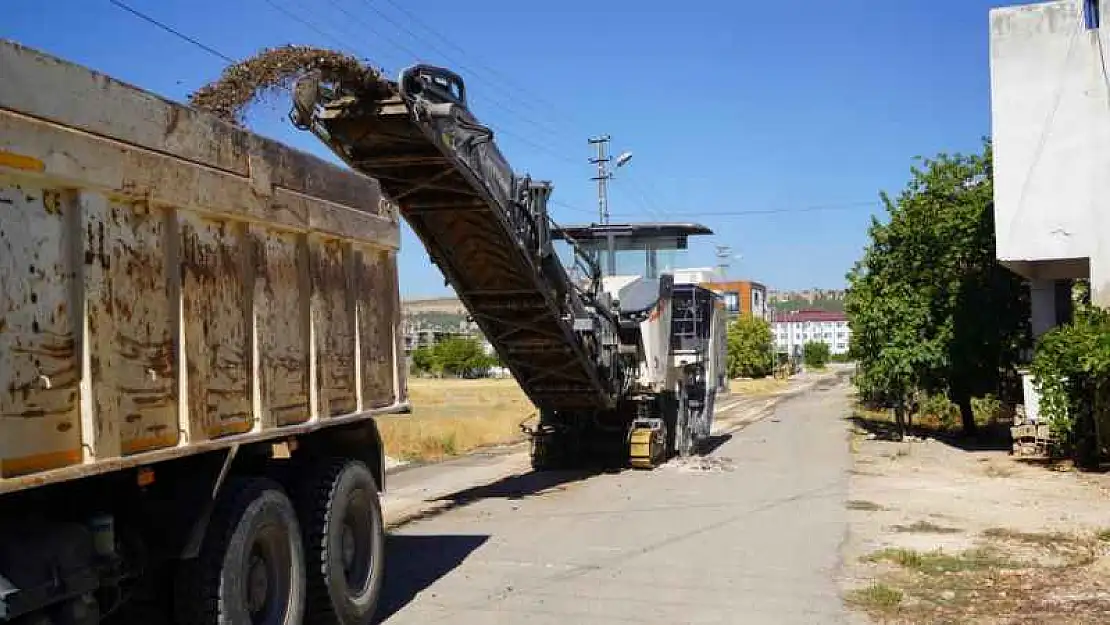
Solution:
<path fill-rule="evenodd" d="M 1031 279 L 1089 276 L 1110 304 L 1110 0 L 1100 3 L 1096 30 L 1081 0 L 990 12 L 991 115 L 998 258 Z"/>

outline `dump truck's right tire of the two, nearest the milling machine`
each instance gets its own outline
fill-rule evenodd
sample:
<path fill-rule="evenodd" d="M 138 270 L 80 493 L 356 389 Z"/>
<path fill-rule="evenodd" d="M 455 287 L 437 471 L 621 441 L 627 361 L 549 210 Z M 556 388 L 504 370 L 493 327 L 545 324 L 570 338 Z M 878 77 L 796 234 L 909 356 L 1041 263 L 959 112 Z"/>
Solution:
<path fill-rule="evenodd" d="M 296 493 L 309 563 L 305 623 L 371 623 L 385 566 L 374 475 L 362 462 L 336 458 L 310 470 Z"/>

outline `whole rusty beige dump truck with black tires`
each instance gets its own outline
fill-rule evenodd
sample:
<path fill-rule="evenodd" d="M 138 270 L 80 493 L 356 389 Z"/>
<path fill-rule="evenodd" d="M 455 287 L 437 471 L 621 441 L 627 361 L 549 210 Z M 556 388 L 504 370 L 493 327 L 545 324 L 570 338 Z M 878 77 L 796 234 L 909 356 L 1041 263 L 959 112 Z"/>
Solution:
<path fill-rule="evenodd" d="M 365 175 L 0 42 L 0 623 L 371 622 L 398 229 Z"/>

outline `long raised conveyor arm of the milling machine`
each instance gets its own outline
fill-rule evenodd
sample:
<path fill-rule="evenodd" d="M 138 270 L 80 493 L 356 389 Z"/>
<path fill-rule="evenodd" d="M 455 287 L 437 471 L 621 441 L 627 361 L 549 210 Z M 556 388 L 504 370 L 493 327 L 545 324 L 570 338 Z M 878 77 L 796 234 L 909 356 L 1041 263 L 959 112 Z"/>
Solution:
<path fill-rule="evenodd" d="M 618 376 L 599 364 L 599 336 L 613 320 L 554 254 L 551 187 L 513 174 L 454 73 L 417 65 L 377 87 L 330 92 L 304 79 L 294 121 L 380 181 L 538 407 L 612 407 Z"/>

